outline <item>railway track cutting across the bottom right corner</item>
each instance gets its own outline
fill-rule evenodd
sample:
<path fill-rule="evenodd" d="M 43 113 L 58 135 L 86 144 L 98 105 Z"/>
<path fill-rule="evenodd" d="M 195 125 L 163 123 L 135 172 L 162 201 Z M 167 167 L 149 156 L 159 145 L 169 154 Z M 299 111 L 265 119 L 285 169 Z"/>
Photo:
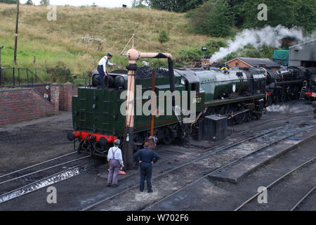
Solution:
<path fill-rule="evenodd" d="M 284 174 L 283 176 L 280 176 L 278 179 L 276 179 L 275 181 L 273 181 L 271 184 L 269 184 L 268 186 L 266 186 L 266 190 L 268 190 L 268 188 L 272 188 L 272 186 L 275 186 L 276 184 L 279 184 L 280 181 L 282 181 L 283 179 L 285 179 L 287 176 L 289 176 L 290 174 L 293 174 L 294 172 L 297 172 L 299 169 L 305 167 L 308 164 L 311 164 L 312 162 L 314 162 L 316 160 L 316 158 L 312 158 L 306 162 L 304 162 L 303 164 L 299 165 L 298 167 L 291 169 L 291 171 L 287 172 L 287 174 Z M 305 200 L 305 198 L 308 197 L 308 195 L 310 195 L 312 193 L 312 191 L 315 190 L 315 186 L 314 188 L 312 188 L 312 190 L 310 190 L 306 195 L 304 195 L 303 198 L 301 198 L 301 200 L 298 201 L 298 203 L 296 203 L 296 205 L 294 205 L 294 207 L 291 208 L 291 211 L 295 210 L 299 205 L 301 205 L 301 203 L 303 202 L 303 200 Z M 265 190 L 263 190 L 265 191 Z M 247 204 L 251 203 L 251 201 L 253 201 L 256 197 L 258 197 L 258 195 L 260 195 L 261 193 L 263 193 L 263 191 L 260 191 L 258 193 L 256 193 L 255 195 L 251 196 L 251 198 L 249 198 L 248 200 L 246 200 L 244 203 L 242 203 L 241 205 L 239 205 L 234 211 L 239 211 L 241 210 L 243 207 L 245 207 Z"/>

